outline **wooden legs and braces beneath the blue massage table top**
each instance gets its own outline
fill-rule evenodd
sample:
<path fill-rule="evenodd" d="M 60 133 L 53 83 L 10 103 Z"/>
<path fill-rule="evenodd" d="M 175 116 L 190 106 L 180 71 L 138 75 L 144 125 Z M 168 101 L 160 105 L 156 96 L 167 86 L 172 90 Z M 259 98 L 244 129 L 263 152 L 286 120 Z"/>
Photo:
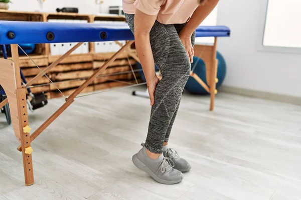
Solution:
<path fill-rule="evenodd" d="M 20 75 L 20 65 L 19 65 L 19 53 L 18 44 L 11 44 L 12 48 L 12 60 L 0 58 L 0 84 L 4 88 L 7 99 L 0 102 L 0 107 L 3 107 L 9 102 L 12 125 L 14 128 L 15 135 L 20 141 L 20 146 L 18 150 L 22 151 L 24 174 L 25 174 L 25 184 L 34 184 L 34 171 L 32 163 L 32 147 L 31 142 L 39 136 L 46 127 L 48 127 L 70 104 L 74 102 L 74 98 L 86 88 L 99 74 L 101 74 L 115 59 L 123 52 L 127 51 L 134 59 L 138 61 L 138 57 L 135 53 L 130 50 L 130 45 L 134 41 L 126 41 L 124 45 L 118 43 L 121 48 L 114 53 L 100 68 L 98 68 L 81 86 L 79 86 L 71 95 L 66 98 L 66 102 L 58 108 L 39 128 L 37 128 L 32 134 L 30 134 L 31 128 L 28 122 L 27 113 L 27 103 L 26 103 L 26 88 L 21 84 Z M 44 73 L 50 71 L 53 67 L 59 64 L 65 57 L 70 55 L 77 47 L 79 47 L 82 42 L 79 42 L 64 55 L 59 57 L 55 62 L 46 67 L 43 72 L 36 75 L 31 81 L 27 83 L 27 86 L 32 85 L 36 80 L 41 78 Z M 206 63 L 206 68 L 208 69 L 207 82 L 210 83 L 210 87 L 207 86 L 195 73 L 191 73 L 201 85 L 206 87 L 205 89 L 211 93 L 210 110 L 214 107 L 214 97 L 215 97 L 215 85 L 216 85 L 216 73 L 217 73 L 217 60 L 216 60 L 216 38 L 213 46 L 205 46 L 205 52 L 207 56 L 204 56 L 204 61 Z"/>

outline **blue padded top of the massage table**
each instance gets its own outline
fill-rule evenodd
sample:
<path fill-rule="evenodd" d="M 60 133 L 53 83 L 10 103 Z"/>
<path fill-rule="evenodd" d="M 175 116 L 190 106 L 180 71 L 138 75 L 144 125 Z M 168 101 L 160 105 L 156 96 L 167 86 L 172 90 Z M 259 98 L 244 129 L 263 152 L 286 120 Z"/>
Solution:
<path fill-rule="evenodd" d="M 230 36 L 227 26 L 199 26 L 197 37 Z M 0 20 L 0 44 L 133 40 L 126 22 L 61 23 Z"/>

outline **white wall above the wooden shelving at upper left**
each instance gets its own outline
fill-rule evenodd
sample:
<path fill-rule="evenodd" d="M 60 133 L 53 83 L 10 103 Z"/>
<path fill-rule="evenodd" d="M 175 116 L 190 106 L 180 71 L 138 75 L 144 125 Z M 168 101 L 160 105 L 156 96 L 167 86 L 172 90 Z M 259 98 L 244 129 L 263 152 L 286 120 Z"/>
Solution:
<path fill-rule="evenodd" d="M 40 9 L 38 0 L 12 0 L 10 10 L 20 11 L 46 11 L 56 12 L 57 7 L 78 7 L 79 13 L 97 14 L 108 13 L 109 5 L 122 5 L 122 0 L 104 0 L 104 3 L 97 5 L 95 0 L 45 0 L 43 9 Z"/>

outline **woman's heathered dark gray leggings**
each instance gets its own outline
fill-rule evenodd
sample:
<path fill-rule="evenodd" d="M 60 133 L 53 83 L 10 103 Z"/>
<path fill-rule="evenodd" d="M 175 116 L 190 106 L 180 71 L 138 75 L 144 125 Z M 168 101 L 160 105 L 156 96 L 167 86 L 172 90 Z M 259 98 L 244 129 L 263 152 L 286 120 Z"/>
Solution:
<path fill-rule="evenodd" d="M 134 32 L 134 14 L 125 14 L 125 18 Z M 169 139 L 190 74 L 191 63 L 178 35 L 184 25 L 166 25 L 156 20 L 149 33 L 154 61 L 162 74 L 155 90 L 155 103 L 150 112 L 145 141 L 145 147 L 154 153 L 162 153 L 163 142 Z M 191 41 L 194 45 L 195 32 Z"/>

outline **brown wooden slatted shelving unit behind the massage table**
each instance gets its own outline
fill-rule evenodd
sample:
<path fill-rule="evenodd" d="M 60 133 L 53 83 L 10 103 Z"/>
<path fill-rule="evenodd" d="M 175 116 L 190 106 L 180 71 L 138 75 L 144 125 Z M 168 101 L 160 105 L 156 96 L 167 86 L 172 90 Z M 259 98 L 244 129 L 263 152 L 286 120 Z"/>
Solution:
<path fill-rule="evenodd" d="M 1 10 L 0 20 L 20 20 L 20 21 L 48 21 L 49 19 L 73 19 L 73 20 L 87 20 L 94 22 L 95 20 L 106 21 L 125 21 L 124 16 L 118 15 L 91 15 L 79 13 L 43 13 L 43 12 L 23 12 L 13 10 Z M 134 50 L 135 51 L 135 50 Z M 48 73 L 48 77 L 55 82 L 56 86 L 62 90 L 65 95 L 70 95 L 78 86 L 80 86 L 85 79 L 87 79 L 94 71 L 99 68 L 103 63 L 108 60 L 115 52 L 95 53 L 94 42 L 89 42 L 89 53 L 71 54 L 63 59 L 56 67 L 52 68 Z M 36 44 L 36 49 L 30 57 L 36 64 L 43 70 L 46 66 L 53 63 L 61 55 L 50 54 L 50 44 Z M 86 89 L 82 92 L 91 92 L 99 89 L 107 89 L 117 86 L 128 85 L 124 82 L 113 82 L 112 79 L 134 83 L 134 75 L 132 74 L 131 67 L 128 63 L 135 67 L 136 61 L 129 56 L 126 52 L 119 54 L 114 62 L 96 78 Z M 10 57 L 11 59 L 11 57 Z M 35 75 L 40 73 L 40 69 L 36 67 L 35 63 L 26 55 L 20 55 L 20 66 L 27 78 L 31 80 Z M 126 73 L 122 73 L 125 72 Z M 116 74 L 120 73 L 121 74 Z M 135 73 L 139 82 L 139 73 Z M 32 87 L 33 92 L 44 91 L 48 97 L 61 97 L 61 93 L 57 90 L 55 85 L 49 84 L 50 80 L 43 76 L 35 82 Z M 41 85 L 46 84 L 46 85 Z"/>

